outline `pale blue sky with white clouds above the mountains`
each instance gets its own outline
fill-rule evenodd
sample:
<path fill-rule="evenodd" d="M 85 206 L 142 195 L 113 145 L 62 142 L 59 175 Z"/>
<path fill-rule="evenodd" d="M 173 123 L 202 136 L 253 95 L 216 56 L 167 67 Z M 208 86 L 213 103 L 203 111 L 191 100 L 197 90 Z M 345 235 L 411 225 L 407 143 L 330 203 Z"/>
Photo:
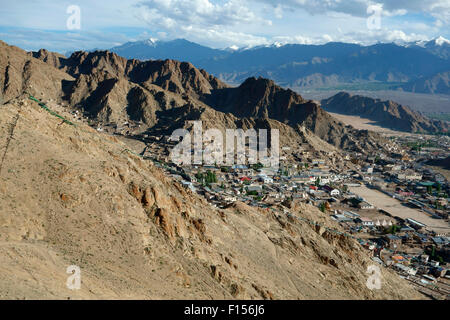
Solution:
<path fill-rule="evenodd" d="M 0 0 L 0 40 L 25 50 L 184 38 L 212 48 L 450 38 L 450 0 Z"/>

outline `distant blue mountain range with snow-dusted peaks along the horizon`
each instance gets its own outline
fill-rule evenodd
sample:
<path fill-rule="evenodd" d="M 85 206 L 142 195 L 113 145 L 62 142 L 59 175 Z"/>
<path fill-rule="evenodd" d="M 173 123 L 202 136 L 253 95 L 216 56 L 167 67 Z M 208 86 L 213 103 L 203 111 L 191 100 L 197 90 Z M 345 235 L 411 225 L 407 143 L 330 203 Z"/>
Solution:
<path fill-rule="evenodd" d="M 249 77 L 273 79 L 296 89 L 402 89 L 448 94 L 450 41 L 362 46 L 331 42 L 323 45 L 274 44 L 244 49 L 211 49 L 177 39 L 128 42 L 110 51 L 128 59 L 176 59 L 192 62 L 222 81 L 240 84 Z"/>

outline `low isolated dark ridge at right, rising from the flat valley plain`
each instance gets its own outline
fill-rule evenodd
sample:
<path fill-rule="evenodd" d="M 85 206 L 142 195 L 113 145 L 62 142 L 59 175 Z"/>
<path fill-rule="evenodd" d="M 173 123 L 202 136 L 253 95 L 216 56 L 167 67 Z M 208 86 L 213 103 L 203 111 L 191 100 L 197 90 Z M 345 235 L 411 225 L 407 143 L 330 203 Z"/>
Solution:
<path fill-rule="evenodd" d="M 398 131 L 442 133 L 450 129 L 447 122 L 430 120 L 396 102 L 350 95 L 346 92 L 323 100 L 322 106 L 330 112 L 361 116 L 376 121 L 380 126 Z"/>

